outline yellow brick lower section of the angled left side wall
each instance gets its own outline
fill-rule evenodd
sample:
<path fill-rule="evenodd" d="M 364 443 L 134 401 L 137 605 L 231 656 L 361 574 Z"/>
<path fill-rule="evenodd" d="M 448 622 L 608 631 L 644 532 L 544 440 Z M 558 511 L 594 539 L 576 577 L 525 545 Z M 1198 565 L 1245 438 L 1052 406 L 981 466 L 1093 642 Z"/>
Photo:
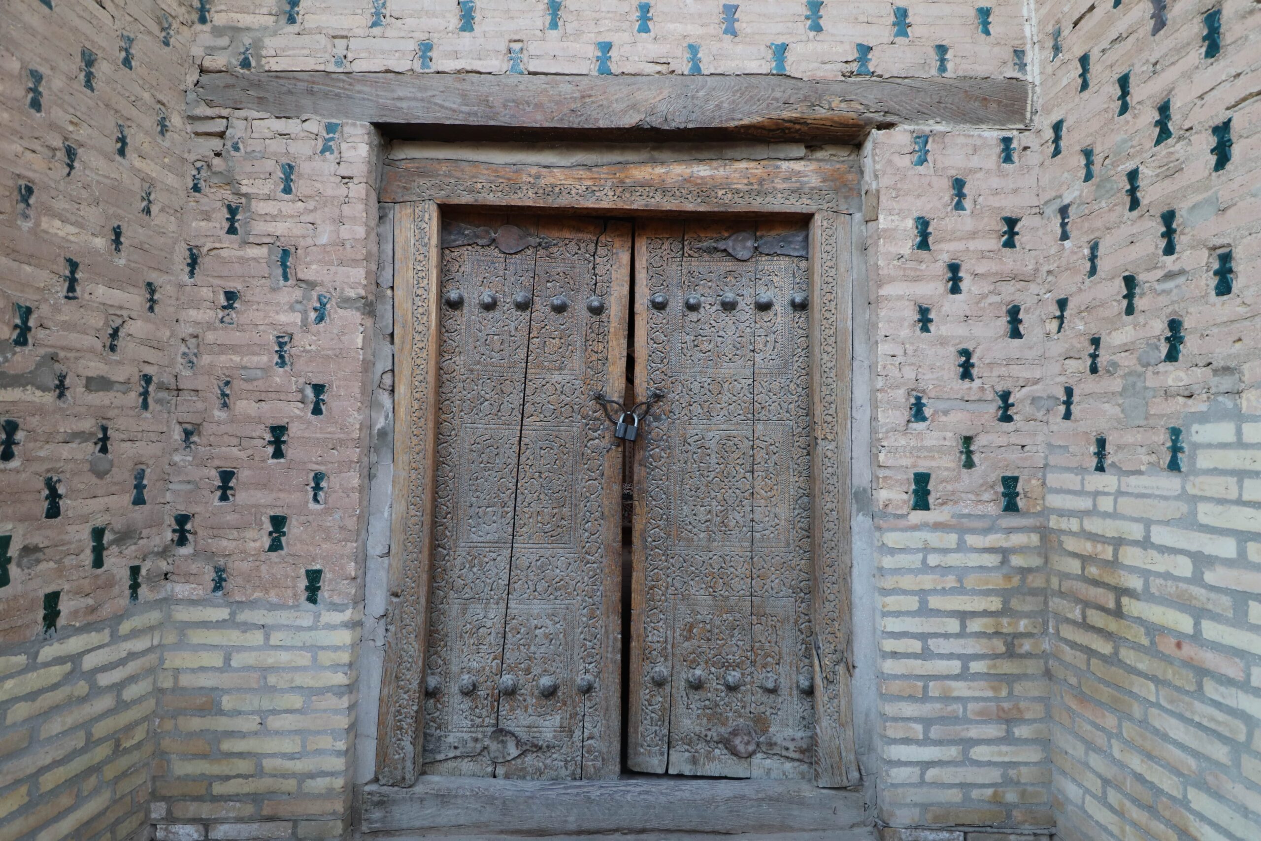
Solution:
<path fill-rule="evenodd" d="M 0 657 L 0 840 L 148 831 L 161 604 Z"/>

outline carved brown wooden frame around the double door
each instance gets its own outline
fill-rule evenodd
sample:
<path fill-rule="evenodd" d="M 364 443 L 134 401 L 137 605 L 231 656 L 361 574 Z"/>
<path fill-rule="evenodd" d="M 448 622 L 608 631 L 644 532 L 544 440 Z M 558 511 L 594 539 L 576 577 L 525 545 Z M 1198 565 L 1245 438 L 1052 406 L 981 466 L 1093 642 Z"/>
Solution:
<path fill-rule="evenodd" d="M 854 159 L 678 161 L 554 168 L 450 160 L 388 161 L 381 200 L 395 211 L 395 450 L 386 656 L 377 780 L 420 773 L 434 526 L 438 311 L 444 208 L 584 216 L 794 216 L 810 224 L 811 614 L 816 629 L 815 783 L 860 783 L 850 672 L 851 277 L 861 257 Z M 859 246 L 859 247 L 855 247 Z M 619 488 L 608 493 L 617 494 Z M 406 501 L 406 504 L 400 504 Z M 620 547 L 618 547 L 620 551 Z M 607 605 L 619 610 L 620 562 L 607 559 Z M 620 661 L 620 648 L 608 652 Z M 620 673 L 601 686 L 620 715 Z M 614 740 L 614 744 L 617 741 Z M 614 772 L 615 773 L 615 772 Z"/>

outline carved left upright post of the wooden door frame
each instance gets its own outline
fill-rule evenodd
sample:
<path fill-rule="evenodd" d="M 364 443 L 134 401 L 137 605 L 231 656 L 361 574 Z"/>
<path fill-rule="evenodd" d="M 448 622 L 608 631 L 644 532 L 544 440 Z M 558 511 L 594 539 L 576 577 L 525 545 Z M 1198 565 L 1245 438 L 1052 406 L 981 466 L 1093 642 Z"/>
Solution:
<path fill-rule="evenodd" d="M 438 392 L 438 286 L 441 219 L 434 202 L 395 214 L 395 504 L 390 599 L 377 725 L 377 779 L 410 786 L 420 769 L 422 686 L 429 633 Z"/>

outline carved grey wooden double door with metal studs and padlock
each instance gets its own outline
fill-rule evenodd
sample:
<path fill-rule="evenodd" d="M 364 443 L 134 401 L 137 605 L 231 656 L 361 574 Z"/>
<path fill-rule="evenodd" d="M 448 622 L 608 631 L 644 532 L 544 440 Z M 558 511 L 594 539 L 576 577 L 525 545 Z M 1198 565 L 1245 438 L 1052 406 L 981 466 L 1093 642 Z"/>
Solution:
<path fill-rule="evenodd" d="M 805 233 L 469 216 L 441 253 L 424 773 L 810 778 Z M 617 439 L 595 392 L 652 390 Z"/>

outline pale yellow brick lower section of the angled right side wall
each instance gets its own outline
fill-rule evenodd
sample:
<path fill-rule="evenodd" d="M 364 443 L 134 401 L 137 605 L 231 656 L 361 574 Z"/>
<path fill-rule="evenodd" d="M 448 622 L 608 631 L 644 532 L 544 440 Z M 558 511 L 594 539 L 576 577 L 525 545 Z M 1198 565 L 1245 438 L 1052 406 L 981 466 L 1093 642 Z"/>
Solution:
<path fill-rule="evenodd" d="M 1236 440 L 1248 425 L 1218 420 L 1217 435 L 1223 422 Z M 1246 468 L 1222 464 L 1235 473 L 1229 478 L 1246 475 Z M 1185 499 L 1175 522 L 1193 533 L 1206 526 L 1195 501 L 1206 488 L 1238 498 L 1237 487 L 1203 482 L 1212 478 L 1197 472 L 1142 489 Z M 1179 831 L 1197 838 L 1256 837 L 1261 615 L 1252 605 L 1261 576 L 1242 557 L 1256 545 L 1248 526 L 1261 512 L 1247 508 L 1228 523 L 1213 523 L 1206 532 L 1212 540 L 1199 551 L 1159 552 L 1126 541 L 1144 540 L 1141 532 L 1129 536 L 1135 528 L 1168 522 L 1160 498 L 1125 494 L 1124 477 L 1093 470 L 1053 470 L 1048 484 L 1096 511 L 1113 501 L 1117 507 L 1124 499 L 1140 503 L 1125 528 L 1115 527 L 1112 516 L 1096 518 L 1092 528 L 1102 540 L 1072 540 L 1087 523 L 1071 516 L 1061 522 L 1064 532 L 1050 535 L 1053 759 L 1062 831 L 1082 838 L 1125 838 L 1132 827 L 1170 840 Z M 1137 513 L 1144 509 L 1146 516 Z M 1226 541 L 1235 551 L 1223 552 Z M 1235 560 L 1222 561 L 1223 554 Z"/>

